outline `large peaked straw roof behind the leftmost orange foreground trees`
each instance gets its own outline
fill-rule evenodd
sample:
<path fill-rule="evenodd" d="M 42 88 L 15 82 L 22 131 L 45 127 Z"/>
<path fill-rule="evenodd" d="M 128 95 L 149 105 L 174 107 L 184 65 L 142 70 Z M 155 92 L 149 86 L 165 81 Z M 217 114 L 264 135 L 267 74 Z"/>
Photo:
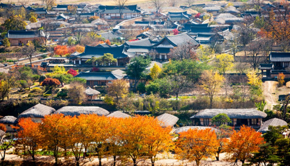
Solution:
<path fill-rule="evenodd" d="M 27 117 L 43 118 L 45 115 L 49 115 L 54 111 L 55 109 L 52 107 L 48 107 L 43 104 L 36 104 L 35 106 L 29 108 L 28 110 L 18 115 L 18 119 Z"/>

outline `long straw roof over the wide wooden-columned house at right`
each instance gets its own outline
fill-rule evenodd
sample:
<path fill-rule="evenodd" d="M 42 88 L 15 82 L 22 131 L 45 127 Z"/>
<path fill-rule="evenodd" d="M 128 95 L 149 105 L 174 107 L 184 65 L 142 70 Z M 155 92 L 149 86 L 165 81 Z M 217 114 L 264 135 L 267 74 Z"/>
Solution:
<path fill-rule="evenodd" d="M 258 111 L 255 108 L 249 109 L 205 109 L 199 111 L 197 114 L 190 118 L 213 118 L 219 113 L 225 113 L 231 119 L 254 119 L 254 118 L 265 118 L 266 113 Z"/>

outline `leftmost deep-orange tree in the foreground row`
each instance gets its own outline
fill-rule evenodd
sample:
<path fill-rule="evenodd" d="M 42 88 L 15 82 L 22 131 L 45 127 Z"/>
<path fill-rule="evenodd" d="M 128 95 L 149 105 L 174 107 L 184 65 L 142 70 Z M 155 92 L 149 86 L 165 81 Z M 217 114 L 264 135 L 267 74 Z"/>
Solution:
<path fill-rule="evenodd" d="M 18 142 L 28 149 L 32 160 L 35 160 L 35 151 L 42 145 L 43 133 L 40 129 L 40 123 L 33 122 L 31 118 L 21 118 L 18 122 Z"/>

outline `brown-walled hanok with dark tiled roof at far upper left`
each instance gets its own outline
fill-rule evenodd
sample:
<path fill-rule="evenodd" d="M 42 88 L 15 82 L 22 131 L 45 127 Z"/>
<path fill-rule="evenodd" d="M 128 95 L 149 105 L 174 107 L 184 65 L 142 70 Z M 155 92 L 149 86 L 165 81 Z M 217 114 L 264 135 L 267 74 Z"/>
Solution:
<path fill-rule="evenodd" d="M 45 41 L 45 35 L 41 30 L 8 30 L 7 38 L 11 46 L 25 45 L 29 41 L 35 39 L 39 40 L 41 43 Z"/>

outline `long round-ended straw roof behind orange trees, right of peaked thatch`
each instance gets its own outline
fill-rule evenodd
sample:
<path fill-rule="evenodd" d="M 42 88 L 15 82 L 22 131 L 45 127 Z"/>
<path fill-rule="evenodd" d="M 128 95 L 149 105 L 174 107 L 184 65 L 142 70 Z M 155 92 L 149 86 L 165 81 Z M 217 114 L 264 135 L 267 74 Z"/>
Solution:
<path fill-rule="evenodd" d="M 54 113 L 62 113 L 65 116 L 79 116 L 80 114 L 97 114 L 99 116 L 106 116 L 109 111 L 95 106 L 83 107 L 83 106 L 66 106 L 62 107 Z"/>

